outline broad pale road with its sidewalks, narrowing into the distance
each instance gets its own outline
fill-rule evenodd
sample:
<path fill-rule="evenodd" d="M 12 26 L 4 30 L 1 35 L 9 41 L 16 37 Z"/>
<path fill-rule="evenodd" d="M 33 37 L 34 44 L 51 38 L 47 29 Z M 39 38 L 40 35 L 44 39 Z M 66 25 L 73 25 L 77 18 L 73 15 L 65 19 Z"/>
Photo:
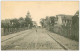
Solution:
<path fill-rule="evenodd" d="M 57 35 L 58 36 L 58 35 Z M 60 37 L 60 36 L 58 36 Z M 79 43 L 70 39 L 70 45 L 60 42 L 55 33 L 45 29 L 29 29 L 1 37 L 2 50 L 78 50 Z M 64 41 L 62 40 L 62 41 Z M 74 44 L 75 43 L 75 44 Z M 69 42 L 68 42 L 69 44 Z"/>

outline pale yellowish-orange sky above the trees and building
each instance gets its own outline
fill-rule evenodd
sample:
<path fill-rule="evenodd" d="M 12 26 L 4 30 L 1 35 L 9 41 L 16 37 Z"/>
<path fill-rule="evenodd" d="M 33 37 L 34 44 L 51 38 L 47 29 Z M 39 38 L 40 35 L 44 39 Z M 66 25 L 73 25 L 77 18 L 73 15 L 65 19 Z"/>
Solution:
<path fill-rule="evenodd" d="M 2 1 L 1 20 L 25 18 L 29 11 L 32 20 L 40 25 L 41 18 L 58 14 L 74 15 L 77 10 L 78 1 Z"/>

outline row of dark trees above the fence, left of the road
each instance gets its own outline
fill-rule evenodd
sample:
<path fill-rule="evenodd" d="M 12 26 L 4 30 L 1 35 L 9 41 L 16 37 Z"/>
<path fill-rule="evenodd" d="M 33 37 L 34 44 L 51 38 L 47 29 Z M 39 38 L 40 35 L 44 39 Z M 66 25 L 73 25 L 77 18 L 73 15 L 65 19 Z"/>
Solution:
<path fill-rule="evenodd" d="M 31 28 L 33 26 L 31 17 L 26 16 L 26 18 L 20 17 L 19 19 L 6 19 L 1 21 L 1 27 L 2 28 L 23 28 L 23 27 L 29 27 Z"/>

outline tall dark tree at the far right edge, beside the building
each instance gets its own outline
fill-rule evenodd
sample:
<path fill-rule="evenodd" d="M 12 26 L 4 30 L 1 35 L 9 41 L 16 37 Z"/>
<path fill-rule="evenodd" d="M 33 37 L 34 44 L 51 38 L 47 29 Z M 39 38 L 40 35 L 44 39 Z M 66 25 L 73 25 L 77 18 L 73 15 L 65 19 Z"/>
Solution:
<path fill-rule="evenodd" d="M 79 11 L 72 17 L 72 37 L 79 41 Z"/>

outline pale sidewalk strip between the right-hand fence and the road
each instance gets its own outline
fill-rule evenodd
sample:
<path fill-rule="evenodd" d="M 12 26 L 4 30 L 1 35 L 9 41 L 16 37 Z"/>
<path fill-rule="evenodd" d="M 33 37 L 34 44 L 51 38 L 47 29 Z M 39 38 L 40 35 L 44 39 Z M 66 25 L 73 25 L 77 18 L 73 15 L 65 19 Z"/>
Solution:
<path fill-rule="evenodd" d="M 49 32 L 50 35 L 57 40 L 59 43 L 61 43 L 62 45 L 66 46 L 67 48 L 69 48 L 69 50 L 79 50 L 79 42 L 75 41 L 75 40 L 71 40 L 67 37 L 63 37 L 61 35 Z"/>

